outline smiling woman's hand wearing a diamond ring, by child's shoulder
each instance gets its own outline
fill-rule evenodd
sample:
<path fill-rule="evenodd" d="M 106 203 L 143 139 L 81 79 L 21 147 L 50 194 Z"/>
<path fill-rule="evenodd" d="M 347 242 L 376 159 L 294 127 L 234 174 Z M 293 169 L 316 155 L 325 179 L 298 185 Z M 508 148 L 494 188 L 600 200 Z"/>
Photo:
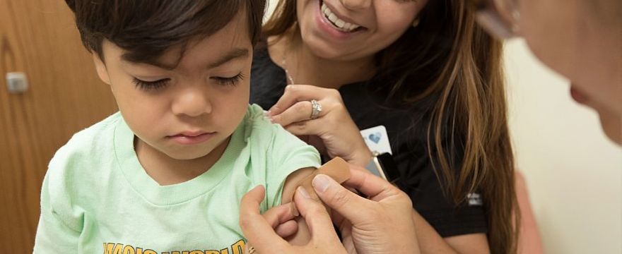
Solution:
<path fill-rule="evenodd" d="M 322 106 L 317 119 L 311 119 L 312 99 Z M 266 116 L 331 158 L 339 156 L 363 167 L 372 158 L 337 90 L 288 85 Z"/>

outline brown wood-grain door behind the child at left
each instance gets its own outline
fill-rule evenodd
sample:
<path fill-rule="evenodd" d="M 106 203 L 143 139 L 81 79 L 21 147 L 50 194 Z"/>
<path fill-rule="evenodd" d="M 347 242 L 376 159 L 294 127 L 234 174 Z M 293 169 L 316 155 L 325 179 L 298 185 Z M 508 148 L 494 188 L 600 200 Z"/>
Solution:
<path fill-rule="evenodd" d="M 5 73 L 30 87 L 11 94 Z M 0 246 L 32 253 L 47 163 L 71 135 L 116 111 L 62 0 L 0 0 Z"/>

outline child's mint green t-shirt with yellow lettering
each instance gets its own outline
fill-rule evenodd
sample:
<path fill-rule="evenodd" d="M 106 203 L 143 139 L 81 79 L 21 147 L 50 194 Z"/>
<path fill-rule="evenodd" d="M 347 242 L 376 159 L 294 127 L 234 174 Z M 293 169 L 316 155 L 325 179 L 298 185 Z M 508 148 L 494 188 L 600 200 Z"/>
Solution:
<path fill-rule="evenodd" d="M 305 167 L 319 167 L 317 150 L 253 105 L 213 167 L 160 186 L 117 113 L 76 133 L 49 163 L 34 252 L 242 254 L 242 195 L 262 184 L 261 209 L 280 205 L 287 176 Z"/>

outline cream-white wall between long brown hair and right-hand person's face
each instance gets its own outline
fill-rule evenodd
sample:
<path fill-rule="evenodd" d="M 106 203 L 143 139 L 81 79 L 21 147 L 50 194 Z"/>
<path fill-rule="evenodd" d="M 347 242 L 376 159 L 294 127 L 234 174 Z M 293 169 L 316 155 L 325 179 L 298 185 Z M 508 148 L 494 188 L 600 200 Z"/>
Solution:
<path fill-rule="evenodd" d="M 506 44 L 510 129 L 547 253 L 622 253 L 622 150 L 568 81 Z"/>

